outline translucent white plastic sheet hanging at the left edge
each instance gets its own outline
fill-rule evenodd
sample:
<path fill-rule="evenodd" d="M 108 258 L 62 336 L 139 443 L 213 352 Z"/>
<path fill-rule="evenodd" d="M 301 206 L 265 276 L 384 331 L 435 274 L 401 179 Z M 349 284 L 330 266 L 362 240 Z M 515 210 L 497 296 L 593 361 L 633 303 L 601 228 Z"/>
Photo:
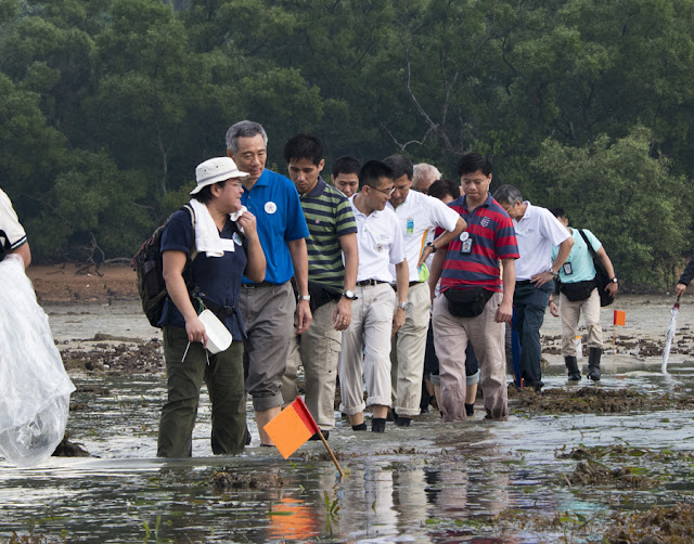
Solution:
<path fill-rule="evenodd" d="M 75 390 L 18 256 L 0 261 L 0 454 L 37 465 L 63 440 Z"/>

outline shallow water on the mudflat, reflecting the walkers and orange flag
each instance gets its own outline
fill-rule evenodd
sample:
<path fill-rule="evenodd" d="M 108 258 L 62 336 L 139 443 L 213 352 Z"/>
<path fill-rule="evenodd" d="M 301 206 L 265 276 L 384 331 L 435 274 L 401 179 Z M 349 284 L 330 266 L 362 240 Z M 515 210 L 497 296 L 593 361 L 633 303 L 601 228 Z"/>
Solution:
<path fill-rule="evenodd" d="M 663 334 L 669 298 L 627 309 L 639 319 L 630 332 Z M 626 303 L 625 303 L 626 306 Z M 617 309 L 624 309 L 616 307 Z M 95 333 L 151 338 L 137 305 L 49 307 L 56 339 L 91 338 Z M 87 313 L 82 313 L 87 312 Z M 608 323 L 612 323 L 612 312 Z M 692 312 L 694 313 L 694 312 Z M 548 315 L 548 335 L 558 320 Z M 646 322 L 644 324 L 644 322 Z M 556 328 L 553 328 L 556 325 Z M 679 326 L 689 326 L 683 308 Z M 628 327 L 627 327 L 628 328 Z M 606 327 L 612 331 L 612 327 Z M 551 363 L 558 357 L 551 358 Z M 691 396 L 694 362 L 673 354 L 671 374 L 659 374 L 658 358 L 605 357 L 603 388 L 629 388 L 653 394 Z M 614 371 L 614 372 L 613 372 Z M 552 364 L 547 388 L 567 387 Z M 192 459 L 157 459 L 156 432 L 165 397 L 163 376 L 75 377 L 72 440 L 95 457 L 52 457 L 39 467 L 17 469 L 0 461 L 0 542 L 13 531 L 62 542 L 597 542 L 601 524 L 615 511 L 654 504 L 692 502 L 692 464 L 641 462 L 633 465 L 663 482 L 651 490 L 568 487 L 563 475 L 577 462 L 557 451 L 581 445 L 628 444 L 634 451 L 694 450 L 694 418 L 687 411 L 617 415 L 529 415 L 512 410 L 506 422 L 475 417 L 444 423 L 426 414 L 410 428 L 388 425 L 385 435 L 355 433 L 346 422 L 331 432 L 330 444 L 348 472 L 338 481 L 331 462 L 317 461 L 321 443 L 308 442 L 284 461 L 270 449 L 252 446 L 243 455 L 211 456 L 209 404 L 201 397 Z M 79 392 L 86 385 L 108 392 Z M 587 384 L 583 381 L 582 384 Z M 258 443 L 253 419 L 249 426 Z M 608 464 L 611 467 L 614 464 Z M 631 462 L 630 462 L 631 463 Z M 280 474 L 283 485 L 218 492 L 209 483 L 216 470 L 264 477 Z M 510 514 L 551 517 L 563 527 L 501 522 Z M 500 516 L 499 519 L 494 516 Z M 579 530 L 587 520 L 586 527 Z"/>

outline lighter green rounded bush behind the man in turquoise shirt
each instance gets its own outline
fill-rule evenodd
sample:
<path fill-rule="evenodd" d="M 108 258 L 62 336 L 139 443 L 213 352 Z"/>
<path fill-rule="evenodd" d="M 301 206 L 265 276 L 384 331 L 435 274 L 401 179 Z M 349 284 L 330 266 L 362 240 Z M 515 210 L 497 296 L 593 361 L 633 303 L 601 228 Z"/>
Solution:
<path fill-rule="evenodd" d="M 545 180 L 543 204 L 564 208 L 569 224 L 590 229 L 604 244 L 619 277 L 631 286 L 665 286 L 670 264 L 686 249 L 687 183 L 669 161 L 652 157 L 651 131 L 635 127 L 613 142 L 582 147 L 547 140 L 534 167 Z M 550 184 L 551 182 L 551 184 Z"/>

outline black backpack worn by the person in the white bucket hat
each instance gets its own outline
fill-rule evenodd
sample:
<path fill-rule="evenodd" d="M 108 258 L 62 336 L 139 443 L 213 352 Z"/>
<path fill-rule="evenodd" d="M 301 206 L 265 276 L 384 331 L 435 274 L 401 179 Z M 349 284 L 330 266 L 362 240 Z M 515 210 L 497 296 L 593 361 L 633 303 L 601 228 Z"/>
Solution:
<path fill-rule="evenodd" d="M 185 209 L 191 216 L 191 222 L 193 223 L 193 247 L 191 248 L 188 260 L 185 261 L 185 268 L 183 269 L 183 280 L 188 287 L 189 293 L 192 295 L 194 286 L 190 277 L 189 271 L 190 264 L 197 256 L 195 250 L 195 211 L 188 204 L 180 209 Z M 167 219 L 166 223 L 157 228 L 154 234 L 140 247 L 140 250 L 134 254 L 130 263 L 132 270 L 138 274 L 138 294 L 142 301 L 142 310 L 144 311 L 150 324 L 153 327 L 159 327 L 159 320 L 162 319 L 162 312 L 164 311 L 164 302 L 168 293 L 166 290 L 166 282 L 164 281 L 164 264 L 162 260 L 162 232 L 164 228 L 171 220 Z M 188 277 L 187 277 L 188 276 Z"/>

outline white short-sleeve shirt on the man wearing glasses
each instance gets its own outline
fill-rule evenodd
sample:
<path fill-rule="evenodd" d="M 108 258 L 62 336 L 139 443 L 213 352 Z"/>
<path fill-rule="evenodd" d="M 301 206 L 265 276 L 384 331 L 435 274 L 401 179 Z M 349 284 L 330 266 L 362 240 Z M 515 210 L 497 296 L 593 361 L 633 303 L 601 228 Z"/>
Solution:
<path fill-rule="evenodd" d="M 359 194 L 359 193 L 357 193 Z M 359 246 L 359 272 L 357 282 L 378 280 L 395 282 L 390 264 L 404 260 L 404 243 L 395 211 L 385 208 L 373 210 L 368 216 L 355 206 L 355 196 L 349 198 L 357 222 L 357 244 Z"/>

